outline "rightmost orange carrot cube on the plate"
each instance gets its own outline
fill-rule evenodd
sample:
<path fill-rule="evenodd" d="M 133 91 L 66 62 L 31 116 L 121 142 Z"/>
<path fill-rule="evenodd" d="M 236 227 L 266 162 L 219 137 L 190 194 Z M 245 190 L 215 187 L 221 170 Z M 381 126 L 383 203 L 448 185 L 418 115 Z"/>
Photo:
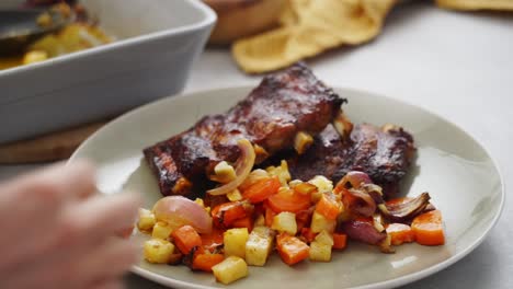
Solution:
<path fill-rule="evenodd" d="M 417 243 L 428 246 L 445 243 L 442 212 L 432 210 L 417 216 L 411 223 Z"/>

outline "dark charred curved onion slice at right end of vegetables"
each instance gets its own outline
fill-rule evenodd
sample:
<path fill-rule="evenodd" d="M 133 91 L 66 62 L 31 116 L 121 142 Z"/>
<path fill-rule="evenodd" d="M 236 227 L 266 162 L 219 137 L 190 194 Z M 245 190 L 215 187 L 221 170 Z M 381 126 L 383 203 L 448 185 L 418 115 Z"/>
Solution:
<path fill-rule="evenodd" d="M 418 197 L 401 204 L 378 206 L 383 215 L 390 221 L 408 222 L 422 213 L 430 205 L 430 194 L 422 193 Z"/>

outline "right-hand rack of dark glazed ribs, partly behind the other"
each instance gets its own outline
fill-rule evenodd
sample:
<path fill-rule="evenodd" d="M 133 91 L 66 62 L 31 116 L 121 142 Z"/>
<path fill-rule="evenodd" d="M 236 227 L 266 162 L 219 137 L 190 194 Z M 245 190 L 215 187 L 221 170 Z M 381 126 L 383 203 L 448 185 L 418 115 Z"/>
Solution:
<path fill-rule="evenodd" d="M 315 137 L 303 155 L 288 160 L 293 178 L 323 175 L 338 182 L 349 171 L 362 171 L 384 188 L 385 197 L 397 193 L 414 154 L 413 137 L 401 127 L 356 125 L 341 137 L 332 125 Z"/>

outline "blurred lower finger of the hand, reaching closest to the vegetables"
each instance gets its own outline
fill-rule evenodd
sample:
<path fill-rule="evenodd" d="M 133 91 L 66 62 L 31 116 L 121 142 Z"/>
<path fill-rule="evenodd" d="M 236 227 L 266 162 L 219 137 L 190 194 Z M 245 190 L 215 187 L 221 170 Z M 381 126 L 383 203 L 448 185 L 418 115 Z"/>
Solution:
<path fill-rule="evenodd" d="M 139 205 L 140 198 L 134 194 L 95 196 L 69 204 L 58 219 L 42 218 L 39 222 L 31 221 L 26 228 L 15 228 L 16 232 L 2 240 L 2 245 L 12 250 L 3 253 L 0 269 L 15 268 L 45 256 L 46 259 L 48 256 L 58 257 L 53 255 L 55 252 L 71 254 L 68 248 L 80 250 L 101 243 L 132 227 Z M 32 234 L 26 233 L 25 236 L 23 232 Z"/>

